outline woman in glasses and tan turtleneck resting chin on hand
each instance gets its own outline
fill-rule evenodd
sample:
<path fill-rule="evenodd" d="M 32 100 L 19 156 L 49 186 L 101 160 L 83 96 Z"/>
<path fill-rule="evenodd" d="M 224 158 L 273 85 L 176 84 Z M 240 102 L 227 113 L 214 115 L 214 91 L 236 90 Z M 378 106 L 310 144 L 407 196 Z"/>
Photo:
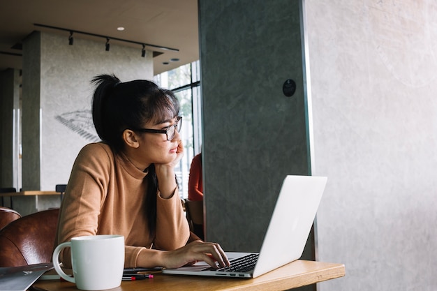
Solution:
<path fill-rule="evenodd" d="M 175 176 L 184 154 L 177 98 L 146 80 L 98 75 L 92 82 L 93 121 L 102 142 L 88 144 L 76 158 L 57 244 L 83 235 L 122 234 L 125 267 L 181 267 L 200 260 L 228 266 L 218 244 L 186 244 L 190 231 Z M 68 252 L 61 261 L 71 265 Z"/>

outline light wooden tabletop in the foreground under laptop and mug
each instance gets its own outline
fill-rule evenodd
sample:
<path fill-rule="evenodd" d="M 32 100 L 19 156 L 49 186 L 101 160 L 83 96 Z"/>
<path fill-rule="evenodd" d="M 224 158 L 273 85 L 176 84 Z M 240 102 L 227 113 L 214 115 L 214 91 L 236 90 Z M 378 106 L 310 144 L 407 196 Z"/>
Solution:
<path fill-rule="evenodd" d="M 345 267 L 344 264 L 297 260 L 254 279 L 153 274 L 154 278 L 150 279 L 122 281 L 119 288 L 111 290 L 289 290 L 345 276 Z M 59 280 L 37 281 L 34 287 L 40 291 L 77 290 L 73 283 Z"/>

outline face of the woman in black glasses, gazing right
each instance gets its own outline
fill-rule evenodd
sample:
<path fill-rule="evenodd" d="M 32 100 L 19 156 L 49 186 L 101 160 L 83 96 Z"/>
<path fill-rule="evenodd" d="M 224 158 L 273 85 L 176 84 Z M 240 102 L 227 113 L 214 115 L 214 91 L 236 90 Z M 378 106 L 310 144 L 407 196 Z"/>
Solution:
<path fill-rule="evenodd" d="M 175 126 L 177 117 L 168 118 L 163 121 L 149 121 L 142 128 L 166 130 L 170 126 Z M 138 147 L 138 158 L 141 163 L 150 165 L 171 163 L 177 156 L 177 149 L 180 135 L 175 130 L 175 136 L 172 140 L 167 140 L 165 133 L 139 133 L 140 147 Z"/>

